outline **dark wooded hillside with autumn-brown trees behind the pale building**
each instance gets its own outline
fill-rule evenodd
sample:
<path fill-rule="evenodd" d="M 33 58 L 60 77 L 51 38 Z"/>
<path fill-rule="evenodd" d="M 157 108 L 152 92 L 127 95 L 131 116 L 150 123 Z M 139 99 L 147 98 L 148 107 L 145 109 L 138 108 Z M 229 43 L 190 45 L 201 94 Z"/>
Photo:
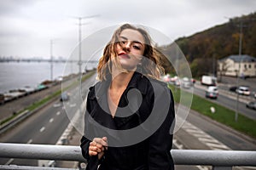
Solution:
<path fill-rule="evenodd" d="M 190 37 L 178 38 L 175 42 L 189 61 L 194 77 L 216 73 L 217 60 L 230 54 L 239 54 L 240 32 L 241 54 L 256 56 L 256 13 L 230 19 L 228 23 L 214 26 Z M 172 44 L 162 47 L 170 54 Z"/>

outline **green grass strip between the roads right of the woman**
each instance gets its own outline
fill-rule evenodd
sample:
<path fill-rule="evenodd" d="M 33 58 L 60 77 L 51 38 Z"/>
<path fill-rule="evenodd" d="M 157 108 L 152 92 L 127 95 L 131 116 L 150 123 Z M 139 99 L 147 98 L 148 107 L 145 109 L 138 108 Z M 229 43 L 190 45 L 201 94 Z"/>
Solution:
<path fill-rule="evenodd" d="M 172 89 L 172 94 L 174 96 L 175 102 L 180 102 L 180 94 L 181 91 L 179 88 L 175 88 L 172 85 L 169 85 L 169 88 Z M 188 94 L 188 92 L 184 92 L 183 94 Z M 214 107 L 215 112 L 212 113 L 210 111 L 210 108 Z M 213 103 L 207 99 L 201 98 L 200 96 L 197 96 L 193 94 L 193 100 L 190 109 L 194 111 L 198 111 L 199 113 L 208 116 L 212 118 L 212 120 L 215 120 L 217 122 L 221 122 L 224 125 L 228 127 L 232 127 L 236 129 L 237 131 L 241 133 L 245 133 L 248 136 L 253 137 L 256 139 L 256 121 L 253 119 L 248 118 L 247 116 L 241 115 L 241 113 L 238 113 L 238 119 L 237 122 L 235 121 L 236 112 L 232 111 L 222 105 L 218 105 L 216 103 Z"/>

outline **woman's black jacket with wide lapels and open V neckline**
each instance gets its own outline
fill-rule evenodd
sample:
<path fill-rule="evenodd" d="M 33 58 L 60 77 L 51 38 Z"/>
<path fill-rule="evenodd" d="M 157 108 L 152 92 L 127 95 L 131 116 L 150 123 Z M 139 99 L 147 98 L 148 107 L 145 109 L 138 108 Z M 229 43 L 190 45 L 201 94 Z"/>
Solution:
<path fill-rule="evenodd" d="M 86 169 L 96 169 L 98 165 L 100 170 L 174 169 L 170 152 L 174 102 L 166 83 L 135 72 L 114 117 L 108 110 L 108 86 L 108 81 L 97 82 L 87 96 L 80 145 L 88 161 Z M 108 150 L 102 159 L 89 156 L 90 141 L 104 136 L 108 138 Z"/>

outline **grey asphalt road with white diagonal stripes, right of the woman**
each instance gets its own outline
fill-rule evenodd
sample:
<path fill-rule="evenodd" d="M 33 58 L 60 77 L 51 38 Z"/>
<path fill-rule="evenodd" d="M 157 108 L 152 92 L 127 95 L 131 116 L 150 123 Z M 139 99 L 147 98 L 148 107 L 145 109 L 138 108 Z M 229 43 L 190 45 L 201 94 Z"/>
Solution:
<path fill-rule="evenodd" d="M 189 111 L 183 126 L 174 133 L 173 149 L 179 150 L 256 150 L 255 139 L 230 127 L 213 122 L 207 116 Z M 177 170 L 210 170 L 208 166 L 176 166 Z M 253 170 L 255 167 L 233 167 L 233 170 Z"/>

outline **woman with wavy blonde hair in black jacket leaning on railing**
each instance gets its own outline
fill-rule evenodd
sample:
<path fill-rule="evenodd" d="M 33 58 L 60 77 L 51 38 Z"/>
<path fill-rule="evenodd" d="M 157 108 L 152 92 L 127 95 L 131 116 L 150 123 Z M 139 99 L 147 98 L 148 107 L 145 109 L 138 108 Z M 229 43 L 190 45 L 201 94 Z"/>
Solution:
<path fill-rule="evenodd" d="M 158 80 L 162 71 L 147 31 L 125 24 L 114 32 L 87 96 L 80 145 L 87 170 L 174 169 L 174 102 Z"/>

